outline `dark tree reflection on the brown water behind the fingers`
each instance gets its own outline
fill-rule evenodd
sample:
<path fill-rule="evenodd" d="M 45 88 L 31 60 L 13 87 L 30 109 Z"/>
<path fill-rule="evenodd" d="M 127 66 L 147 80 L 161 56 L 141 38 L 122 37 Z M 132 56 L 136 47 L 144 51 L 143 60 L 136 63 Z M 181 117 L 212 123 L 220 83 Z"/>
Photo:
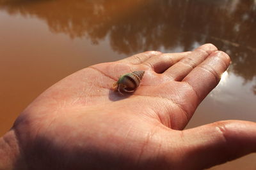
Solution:
<path fill-rule="evenodd" d="M 0 9 L 35 15 L 52 32 L 71 38 L 89 38 L 95 44 L 109 38 L 113 50 L 125 54 L 191 50 L 211 42 L 230 54 L 232 72 L 246 81 L 256 76 L 253 0 L 0 0 Z"/>

